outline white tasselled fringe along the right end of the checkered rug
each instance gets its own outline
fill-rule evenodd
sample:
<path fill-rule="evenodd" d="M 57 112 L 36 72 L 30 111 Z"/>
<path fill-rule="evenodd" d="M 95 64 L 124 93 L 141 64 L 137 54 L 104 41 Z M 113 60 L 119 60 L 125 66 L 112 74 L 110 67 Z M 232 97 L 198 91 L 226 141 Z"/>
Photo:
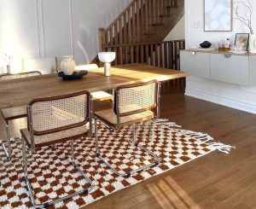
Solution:
<path fill-rule="evenodd" d="M 181 125 L 177 125 L 175 122 L 169 122 L 169 119 L 156 119 L 154 120 L 154 124 L 156 125 L 166 125 L 167 127 L 178 127 L 181 128 Z M 214 140 L 212 136 L 209 136 L 208 134 L 201 133 L 201 132 L 195 132 L 195 131 L 188 131 L 188 130 L 182 130 L 182 129 L 174 129 L 174 131 L 177 131 L 181 134 L 194 137 L 195 139 L 201 140 L 201 142 L 205 142 L 208 146 L 212 146 L 216 149 L 218 149 L 219 152 L 222 152 L 224 154 L 230 154 L 230 151 L 232 148 L 236 148 L 231 145 L 226 145 L 222 142 L 210 142 Z"/>

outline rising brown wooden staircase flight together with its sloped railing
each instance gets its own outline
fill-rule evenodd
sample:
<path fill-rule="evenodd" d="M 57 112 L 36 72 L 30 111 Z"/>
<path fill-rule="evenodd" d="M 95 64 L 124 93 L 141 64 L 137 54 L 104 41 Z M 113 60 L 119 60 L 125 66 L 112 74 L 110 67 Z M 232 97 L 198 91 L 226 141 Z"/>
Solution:
<path fill-rule="evenodd" d="M 184 0 L 133 0 L 108 26 L 100 45 L 160 42 L 184 15 Z"/>

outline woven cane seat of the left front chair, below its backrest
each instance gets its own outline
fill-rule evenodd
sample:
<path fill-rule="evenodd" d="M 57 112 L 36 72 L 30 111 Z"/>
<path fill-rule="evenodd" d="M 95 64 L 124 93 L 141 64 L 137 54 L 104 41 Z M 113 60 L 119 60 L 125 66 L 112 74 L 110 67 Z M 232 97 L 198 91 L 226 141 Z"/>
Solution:
<path fill-rule="evenodd" d="M 31 147 L 30 132 L 28 131 L 28 129 L 22 129 L 20 130 L 20 132 L 21 132 L 21 136 L 23 136 L 24 139 L 26 140 L 28 146 L 30 145 Z M 64 142 L 71 137 L 79 138 L 81 136 L 85 136 L 87 132 L 88 130 L 85 130 L 83 126 L 80 126 L 80 127 L 65 130 L 65 131 L 58 131 L 55 133 L 46 134 L 42 136 L 34 136 L 35 147 L 41 148 L 44 146 L 48 146 L 53 144 L 55 141 Z"/>

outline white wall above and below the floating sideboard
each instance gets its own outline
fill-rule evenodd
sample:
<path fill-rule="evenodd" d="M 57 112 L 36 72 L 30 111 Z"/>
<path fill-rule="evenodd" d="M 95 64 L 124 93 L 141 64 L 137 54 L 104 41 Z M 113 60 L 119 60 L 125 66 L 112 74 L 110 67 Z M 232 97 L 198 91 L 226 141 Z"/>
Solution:
<path fill-rule="evenodd" d="M 249 33 L 247 27 L 239 20 L 233 20 L 233 32 L 204 32 L 203 28 L 194 28 L 194 20 L 203 21 L 203 1 L 204 0 L 185 0 L 187 48 L 199 46 L 199 44 L 206 40 L 212 42 L 215 46 L 220 39 L 224 39 L 227 36 L 235 40 L 236 32 Z M 235 1 L 238 2 L 240 0 L 234 0 L 234 2 Z M 247 0 L 241 1 L 247 3 Z M 254 31 L 256 32 L 256 1 L 250 0 L 250 2 L 253 4 L 253 24 Z M 221 65 L 221 63 L 219 64 Z M 189 77 L 187 79 L 186 95 L 228 107 L 234 107 L 249 113 L 256 113 L 256 86 L 246 87 L 203 78 Z"/>

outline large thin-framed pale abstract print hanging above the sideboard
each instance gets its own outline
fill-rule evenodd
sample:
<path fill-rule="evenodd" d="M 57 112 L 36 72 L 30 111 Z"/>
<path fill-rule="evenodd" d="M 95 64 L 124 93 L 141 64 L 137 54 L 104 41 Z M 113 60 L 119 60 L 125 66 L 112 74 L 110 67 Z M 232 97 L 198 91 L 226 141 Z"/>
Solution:
<path fill-rule="evenodd" d="M 233 31 L 233 0 L 204 0 L 204 32 Z"/>

